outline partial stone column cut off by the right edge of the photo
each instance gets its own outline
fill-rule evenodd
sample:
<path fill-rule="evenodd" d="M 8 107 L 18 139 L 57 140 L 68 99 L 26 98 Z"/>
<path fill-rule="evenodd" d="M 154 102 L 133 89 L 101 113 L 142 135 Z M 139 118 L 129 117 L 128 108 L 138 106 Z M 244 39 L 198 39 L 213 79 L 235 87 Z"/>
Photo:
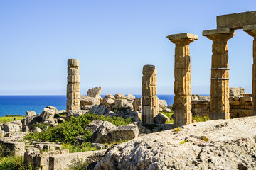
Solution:
<path fill-rule="evenodd" d="M 252 64 L 252 115 L 256 115 L 256 25 L 244 27 L 244 31 L 251 35 L 253 40 L 253 64 Z"/>

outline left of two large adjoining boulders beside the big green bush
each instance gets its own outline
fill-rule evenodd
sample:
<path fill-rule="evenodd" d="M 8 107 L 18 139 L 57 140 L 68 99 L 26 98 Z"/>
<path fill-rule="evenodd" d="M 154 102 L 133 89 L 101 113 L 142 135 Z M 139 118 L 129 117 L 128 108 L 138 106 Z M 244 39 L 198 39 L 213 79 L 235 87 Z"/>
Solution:
<path fill-rule="evenodd" d="M 91 142 L 92 143 L 106 143 L 108 142 L 107 134 L 111 133 L 113 130 L 116 129 L 116 126 L 112 123 L 104 121 L 102 125 L 100 125 L 97 130 L 92 134 Z"/>

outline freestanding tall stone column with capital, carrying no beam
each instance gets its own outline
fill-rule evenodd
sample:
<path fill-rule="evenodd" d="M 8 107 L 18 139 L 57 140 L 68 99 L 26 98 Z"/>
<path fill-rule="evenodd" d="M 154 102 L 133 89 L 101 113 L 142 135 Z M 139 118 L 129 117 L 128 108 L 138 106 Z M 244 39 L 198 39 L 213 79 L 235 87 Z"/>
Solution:
<path fill-rule="evenodd" d="M 197 40 L 198 36 L 181 33 L 169 35 L 167 38 L 175 44 L 174 125 L 187 125 L 192 122 L 189 44 Z"/>

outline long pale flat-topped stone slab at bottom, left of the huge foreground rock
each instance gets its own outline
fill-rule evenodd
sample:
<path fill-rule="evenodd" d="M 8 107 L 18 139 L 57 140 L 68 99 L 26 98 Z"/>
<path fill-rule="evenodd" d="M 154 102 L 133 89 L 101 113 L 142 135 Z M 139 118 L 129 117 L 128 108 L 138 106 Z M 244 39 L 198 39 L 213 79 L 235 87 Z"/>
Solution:
<path fill-rule="evenodd" d="M 82 159 L 82 162 L 98 162 L 104 157 L 105 152 L 106 150 L 99 150 L 51 156 L 49 158 L 49 170 L 68 169 L 68 166 L 77 159 Z"/>

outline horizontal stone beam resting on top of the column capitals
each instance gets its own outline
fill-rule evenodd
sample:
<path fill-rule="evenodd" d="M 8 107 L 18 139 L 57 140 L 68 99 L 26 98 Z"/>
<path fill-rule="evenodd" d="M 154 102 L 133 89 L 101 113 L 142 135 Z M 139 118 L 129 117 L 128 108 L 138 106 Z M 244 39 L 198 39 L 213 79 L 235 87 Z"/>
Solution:
<path fill-rule="evenodd" d="M 217 28 L 242 29 L 256 24 L 256 11 L 217 16 Z"/>

